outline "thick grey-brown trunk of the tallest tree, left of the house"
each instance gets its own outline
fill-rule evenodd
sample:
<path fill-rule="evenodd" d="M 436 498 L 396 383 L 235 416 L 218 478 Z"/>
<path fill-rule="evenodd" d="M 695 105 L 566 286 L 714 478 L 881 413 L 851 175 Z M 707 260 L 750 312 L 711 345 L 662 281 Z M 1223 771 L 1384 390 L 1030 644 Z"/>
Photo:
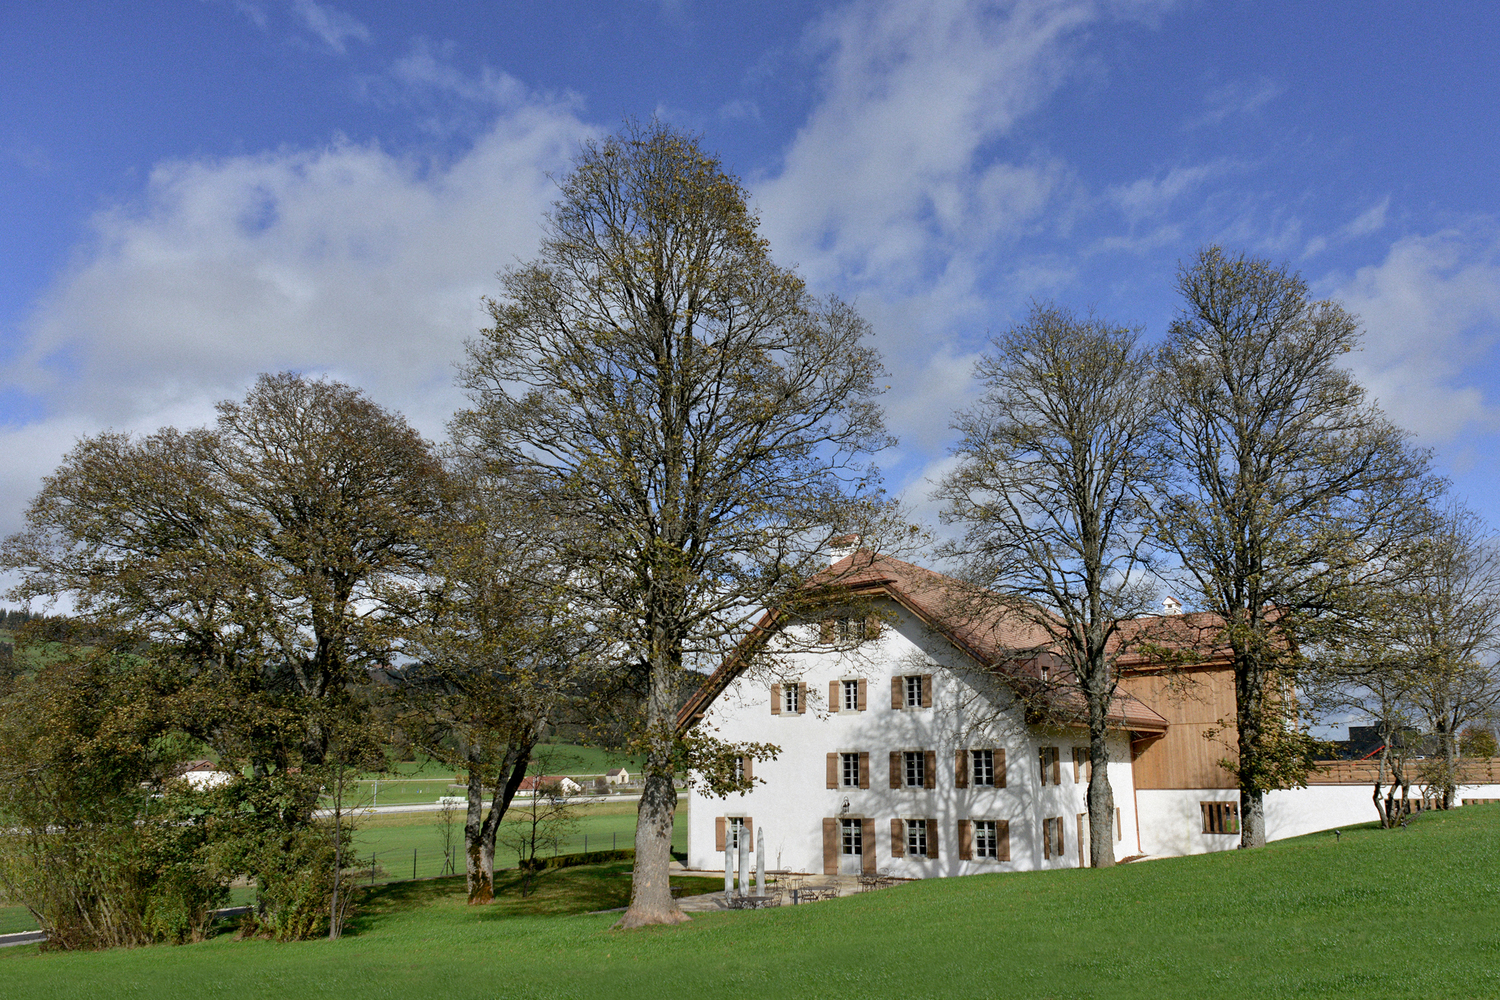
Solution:
<path fill-rule="evenodd" d="M 672 822 L 676 814 L 676 786 L 672 783 L 672 747 L 676 739 L 672 711 L 672 673 L 664 652 L 657 643 L 646 696 L 645 781 L 640 790 L 640 811 L 636 817 L 636 864 L 630 883 L 630 907 L 616 928 L 651 924 L 684 924 L 687 915 L 676 906 L 670 889 Z"/>

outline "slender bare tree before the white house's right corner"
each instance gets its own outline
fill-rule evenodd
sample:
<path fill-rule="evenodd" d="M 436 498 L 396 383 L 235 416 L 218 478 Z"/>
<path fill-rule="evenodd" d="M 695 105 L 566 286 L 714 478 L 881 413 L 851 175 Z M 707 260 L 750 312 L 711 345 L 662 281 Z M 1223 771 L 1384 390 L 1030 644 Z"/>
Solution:
<path fill-rule="evenodd" d="M 1053 640 L 1089 729 L 1089 855 L 1114 864 L 1108 711 L 1126 646 L 1118 625 L 1148 609 L 1149 552 L 1137 493 L 1154 478 L 1150 355 L 1132 330 L 1032 306 L 975 366 L 986 394 L 958 415 L 957 468 L 938 493 L 963 525 L 966 576 Z M 978 609 L 976 609 L 978 610 Z"/>

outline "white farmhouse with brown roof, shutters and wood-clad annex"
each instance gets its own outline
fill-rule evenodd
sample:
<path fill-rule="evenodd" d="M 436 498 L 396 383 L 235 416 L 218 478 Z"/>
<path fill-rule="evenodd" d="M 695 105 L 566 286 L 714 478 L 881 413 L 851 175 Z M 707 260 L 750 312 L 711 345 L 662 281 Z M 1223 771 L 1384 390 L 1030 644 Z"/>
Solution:
<path fill-rule="evenodd" d="M 772 870 L 924 879 L 1086 865 L 1088 730 L 1077 696 L 1038 696 L 1059 667 L 1046 634 L 968 613 L 958 585 L 898 559 L 854 553 L 831 573 L 846 612 L 778 628 L 764 619 L 762 637 L 682 709 L 684 726 L 780 747 L 776 760 L 741 762 L 753 790 L 690 792 L 688 865 L 722 867 L 736 838 L 756 847 L 756 831 Z M 1132 627 L 1158 625 L 1184 639 L 1202 622 Z M 756 667 L 758 642 L 780 646 L 774 673 Z M 1122 667 L 1108 738 L 1114 858 L 1234 847 L 1239 793 L 1218 766 L 1224 747 L 1204 738 L 1233 718 L 1227 660 L 1209 651 L 1188 670 Z M 1368 786 L 1272 793 L 1268 834 L 1372 811 Z"/>

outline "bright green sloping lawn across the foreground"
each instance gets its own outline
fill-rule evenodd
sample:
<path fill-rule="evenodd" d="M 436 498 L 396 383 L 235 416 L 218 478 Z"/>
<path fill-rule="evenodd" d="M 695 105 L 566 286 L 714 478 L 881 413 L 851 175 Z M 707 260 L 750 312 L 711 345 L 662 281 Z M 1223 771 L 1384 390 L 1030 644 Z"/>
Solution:
<path fill-rule="evenodd" d="M 513 898 L 465 907 L 456 882 L 392 886 L 336 943 L 10 949 L 0 996 L 1500 997 L 1500 807 L 1342 841 L 928 880 L 628 934 L 608 915 L 528 910 Z"/>

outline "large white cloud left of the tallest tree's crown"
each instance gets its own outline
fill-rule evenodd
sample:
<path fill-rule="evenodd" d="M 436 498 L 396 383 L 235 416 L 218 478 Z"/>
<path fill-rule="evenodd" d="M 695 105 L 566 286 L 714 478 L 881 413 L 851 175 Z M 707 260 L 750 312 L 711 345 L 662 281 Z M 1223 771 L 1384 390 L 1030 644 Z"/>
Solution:
<path fill-rule="evenodd" d="M 24 327 L 3 379 L 46 415 L 0 436 L 24 456 L 0 463 L 0 534 L 78 435 L 206 423 L 258 372 L 348 381 L 441 436 L 480 297 L 532 255 L 548 172 L 590 132 L 534 100 L 452 162 L 334 142 L 159 165 Z"/>

